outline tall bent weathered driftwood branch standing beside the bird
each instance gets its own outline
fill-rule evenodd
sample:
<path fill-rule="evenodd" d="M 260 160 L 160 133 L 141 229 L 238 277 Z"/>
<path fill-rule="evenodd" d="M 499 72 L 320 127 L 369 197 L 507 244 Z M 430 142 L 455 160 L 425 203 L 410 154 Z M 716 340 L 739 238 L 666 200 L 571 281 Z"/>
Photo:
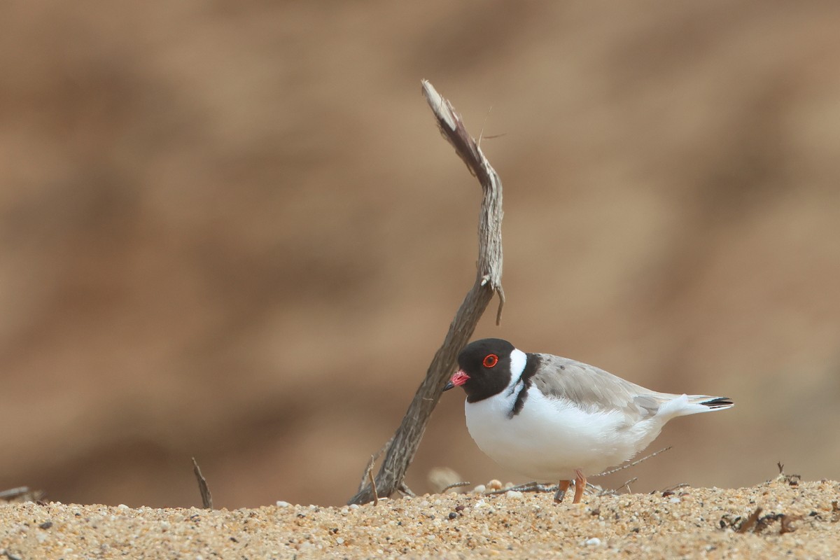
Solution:
<path fill-rule="evenodd" d="M 443 345 L 434 354 L 428 366 L 426 378 L 396 429 L 391 445 L 382 460 L 379 474 L 376 474 L 375 488 L 378 495 L 391 496 L 402 486 L 408 465 L 417 453 L 417 447 L 426 431 L 426 425 L 438 404 L 444 385 L 455 369 L 458 353 L 470 341 L 475 326 L 484 310 L 490 304 L 494 294 L 499 295 L 499 308 L 496 311 L 496 324 L 501 321 L 501 308 L 505 295 L 501 290 L 501 180 L 496 174 L 475 139 L 467 132 L 464 122 L 455 113 L 452 104 L 435 91 L 432 84 L 423 80 L 423 95 L 432 108 L 438 122 L 438 128 L 444 138 L 452 144 L 455 153 L 478 178 L 484 196 L 481 200 L 479 216 L 479 253 L 478 270 L 475 283 L 467 292 L 464 301 L 449 325 Z M 367 479 L 367 471 L 359 492 L 349 500 L 349 504 L 366 504 L 375 500 L 375 491 Z"/>

